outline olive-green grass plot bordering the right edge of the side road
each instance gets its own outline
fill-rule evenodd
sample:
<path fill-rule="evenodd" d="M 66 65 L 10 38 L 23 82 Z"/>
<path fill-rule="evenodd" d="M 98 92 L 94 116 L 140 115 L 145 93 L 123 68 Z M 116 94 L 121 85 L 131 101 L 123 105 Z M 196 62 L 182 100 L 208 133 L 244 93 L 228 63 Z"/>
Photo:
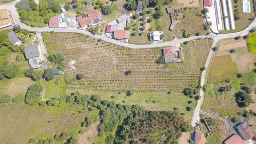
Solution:
<path fill-rule="evenodd" d="M 232 62 L 231 55 L 215 56 L 210 66 L 208 82 L 215 82 L 238 74 L 237 64 Z"/>

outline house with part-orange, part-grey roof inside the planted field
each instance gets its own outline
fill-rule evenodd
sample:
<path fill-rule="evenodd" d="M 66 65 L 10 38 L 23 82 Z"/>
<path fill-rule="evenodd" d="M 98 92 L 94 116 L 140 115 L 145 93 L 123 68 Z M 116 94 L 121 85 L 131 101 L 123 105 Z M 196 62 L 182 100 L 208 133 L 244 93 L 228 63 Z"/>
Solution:
<path fill-rule="evenodd" d="M 181 47 L 168 47 L 163 49 L 165 63 L 182 62 L 184 59 Z"/>

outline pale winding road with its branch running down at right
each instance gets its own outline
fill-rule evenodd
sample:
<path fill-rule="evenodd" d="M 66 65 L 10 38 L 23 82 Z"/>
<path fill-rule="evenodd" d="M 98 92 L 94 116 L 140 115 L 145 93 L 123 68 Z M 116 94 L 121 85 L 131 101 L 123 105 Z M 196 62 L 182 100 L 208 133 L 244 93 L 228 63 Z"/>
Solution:
<path fill-rule="evenodd" d="M 14 22 L 17 24 L 17 25 L 20 25 L 21 28 L 25 28 L 27 30 L 30 30 L 30 31 L 38 31 L 38 32 L 43 32 L 43 31 L 55 31 L 55 32 L 77 32 L 77 33 L 83 33 L 85 35 L 90 35 L 92 37 L 95 37 L 95 38 L 100 38 L 102 39 L 103 41 L 106 41 L 106 42 L 109 42 L 109 43 L 113 43 L 113 44 L 116 44 L 116 45 L 119 45 L 119 46 L 123 46 L 123 47 L 128 47 L 128 48 L 132 48 L 132 49 L 143 49 L 143 48 L 155 48 L 155 47 L 167 47 L 167 46 L 175 46 L 177 44 L 180 44 L 180 43 L 183 43 L 184 41 L 191 41 L 191 40 L 194 40 L 194 39 L 198 39 L 198 38 L 210 38 L 212 37 L 213 38 L 213 44 L 212 44 L 212 48 L 215 47 L 216 43 L 220 40 L 220 39 L 226 39 L 226 38 L 234 38 L 236 36 L 244 36 L 244 35 L 247 35 L 250 33 L 250 30 L 253 29 L 255 26 L 256 26 L 256 19 L 254 19 L 252 21 L 252 23 L 246 28 L 244 29 L 243 31 L 241 32 L 236 32 L 236 33 L 229 33 L 229 34 L 219 34 L 219 35 L 215 35 L 215 34 L 210 34 L 210 35 L 207 35 L 207 36 L 191 36 L 189 38 L 185 38 L 185 39 L 174 39 L 172 41 L 166 41 L 166 42 L 162 42 L 162 43 L 156 43 L 156 44 L 147 44 L 147 45 L 136 45 L 136 44 L 129 44 L 129 43 L 123 43 L 123 42 L 119 42 L 119 41 L 116 41 L 114 39 L 110 39 L 110 38 L 107 38 L 105 35 L 92 35 L 90 32 L 88 31 L 84 31 L 84 30 L 78 30 L 76 28 L 49 28 L 49 27 L 30 27 L 30 26 L 27 26 L 26 24 L 20 22 L 19 20 L 19 15 L 16 11 L 16 7 L 15 7 L 15 3 L 18 2 L 20 0 L 15 0 L 13 2 L 10 2 L 10 3 L 7 3 L 7 4 L 3 4 L 3 5 L 0 5 L 0 9 L 2 8 L 7 8 L 10 10 L 11 12 L 11 15 L 12 15 L 12 18 L 14 20 Z M 204 70 L 201 74 L 201 89 L 200 89 L 200 96 L 201 96 L 201 99 L 198 100 L 198 103 L 197 103 L 197 106 L 195 108 L 195 111 L 194 111 L 194 115 L 193 115 L 193 118 L 192 118 L 192 122 L 191 122 L 191 125 L 193 127 L 196 126 L 196 123 L 197 121 L 200 120 L 200 117 L 199 117 L 199 112 L 200 112 L 200 109 L 201 109 L 201 105 L 202 105 L 202 102 L 203 102 L 203 85 L 204 85 L 204 79 L 205 79 L 205 75 L 206 75 L 206 71 L 207 71 L 207 68 L 210 64 L 210 60 L 211 60 L 211 57 L 212 57 L 212 54 L 213 54 L 213 50 L 211 49 L 210 52 L 209 52 L 209 55 L 207 57 L 207 60 L 206 60 L 206 63 L 205 63 L 205 68 L 206 70 Z"/>

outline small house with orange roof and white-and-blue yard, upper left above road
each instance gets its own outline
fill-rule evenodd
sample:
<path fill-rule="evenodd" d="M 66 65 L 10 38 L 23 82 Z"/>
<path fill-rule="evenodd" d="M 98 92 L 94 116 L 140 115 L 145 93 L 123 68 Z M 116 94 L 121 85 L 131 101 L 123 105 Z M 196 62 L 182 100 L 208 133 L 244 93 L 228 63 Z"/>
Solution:
<path fill-rule="evenodd" d="M 56 15 L 49 20 L 49 27 L 69 27 L 64 13 Z"/>

